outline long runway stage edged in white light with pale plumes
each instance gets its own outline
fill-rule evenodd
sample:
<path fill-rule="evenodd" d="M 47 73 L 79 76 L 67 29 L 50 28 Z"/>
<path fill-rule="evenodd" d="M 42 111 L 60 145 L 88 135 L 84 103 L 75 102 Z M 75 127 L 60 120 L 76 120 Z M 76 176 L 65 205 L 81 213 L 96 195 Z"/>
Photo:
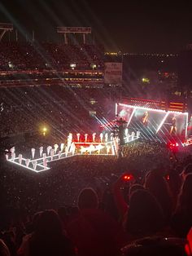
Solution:
<path fill-rule="evenodd" d="M 31 148 L 31 153 L 27 157 L 24 154 L 18 153 L 17 149 L 13 147 L 10 149 L 11 152 L 6 154 L 6 157 L 7 161 L 12 164 L 36 173 L 50 170 L 49 163 L 52 161 L 62 161 L 69 157 L 80 155 L 115 157 L 118 155 L 120 148 L 119 138 L 110 135 L 107 132 L 103 132 L 100 135 L 94 133 L 92 141 L 88 142 L 88 135 L 69 134 L 66 143 L 55 143 L 55 145 L 46 148 L 42 146 L 40 148 Z M 139 133 L 127 133 L 124 136 L 124 143 L 131 143 L 139 139 L 139 135 Z"/>

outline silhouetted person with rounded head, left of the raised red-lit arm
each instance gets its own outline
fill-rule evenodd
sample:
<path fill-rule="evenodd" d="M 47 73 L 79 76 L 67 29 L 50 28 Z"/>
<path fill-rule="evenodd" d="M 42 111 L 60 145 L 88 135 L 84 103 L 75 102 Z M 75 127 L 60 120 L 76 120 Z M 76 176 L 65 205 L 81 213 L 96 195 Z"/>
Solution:
<path fill-rule="evenodd" d="M 120 253 L 124 234 L 110 215 L 98 210 L 98 196 L 92 188 L 78 196 L 79 214 L 69 223 L 69 237 L 82 256 L 112 256 Z"/>

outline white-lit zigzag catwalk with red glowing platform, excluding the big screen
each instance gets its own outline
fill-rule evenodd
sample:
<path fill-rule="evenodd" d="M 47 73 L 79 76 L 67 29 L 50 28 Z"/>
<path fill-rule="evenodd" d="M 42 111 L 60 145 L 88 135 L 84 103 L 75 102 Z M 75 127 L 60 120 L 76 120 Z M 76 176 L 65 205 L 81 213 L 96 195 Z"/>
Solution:
<path fill-rule="evenodd" d="M 87 135 L 88 136 L 88 135 Z M 95 135 L 94 135 L 95 136 Z M 109 140 L 109 138 L 111 140 Z M 95 139 L 95 137 L 93 138 Z M 137 136 L 134 134 L 132 135 L 132 140 L 138 139 Z M 83 146 L 82 146 L 83 143 Z M 39 148 L 39 158 L 35 158 L 35 148 L 31 149 L 32 156 L 31 159 L 24 158 L 21 154 L 19 154 L 18 157 L 15 157 L 15 148 L 11 148 L 11 157 L 9 155 L 6 155 L 7 161 L 10 161 L 11 163 L 22 166 L 25 169 L 33 170 L 34 172 L 38 173 L 44 170 L 49 170 L 50 167 L 47 166 L 47 164 L 50 161 L 59 161 L 61 159 L 67 158 L 67 157 L 73 157 L 76 155 L 81 154 L 90 154 L 90 155 L 115 155 L 118 152 L 118 139 L 113 138 L 112 135 L 105 134 L 105 139 L 103 139 L 103 134 L 99 135 L 99 142 L 72 142 L 72 134 L 68 136 L 68 144 L 64 148 L 64 144 L 62 143 L 60 145 L 55 144 L 52 148 L 51 146 L 48 146 L 46 148 L 46 152 L 43 152 L 43 147 Z M 64 150 L 64 152 L 62 152 Z M 101 151 L 104 151 L 104 153 Z M 46 154 L 47 153 L 47 154 Z"/>

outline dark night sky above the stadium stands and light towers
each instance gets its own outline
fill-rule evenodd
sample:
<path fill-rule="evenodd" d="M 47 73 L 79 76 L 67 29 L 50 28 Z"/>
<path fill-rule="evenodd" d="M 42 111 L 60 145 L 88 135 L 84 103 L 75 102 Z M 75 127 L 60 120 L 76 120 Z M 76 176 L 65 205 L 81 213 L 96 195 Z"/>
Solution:
<path fill-rule="evenodd" d="M 0 22 L 49 41 L 56 26 L 91 26 L 106 51 L 176 53 L 192 42 L 191 10 L 191 1 L 1 0 Z"/>

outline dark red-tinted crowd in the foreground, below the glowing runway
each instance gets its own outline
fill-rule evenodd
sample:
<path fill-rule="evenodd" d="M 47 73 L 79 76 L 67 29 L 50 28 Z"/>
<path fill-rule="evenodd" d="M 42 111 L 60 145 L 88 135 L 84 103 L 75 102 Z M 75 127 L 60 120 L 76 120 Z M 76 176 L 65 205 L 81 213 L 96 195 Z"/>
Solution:
<path fill-rule="evenodd" d="M 190 255 L 191 155 L 144 140 L 123 152 L 41 174 L 4 162 L 3 255 Z"/>

